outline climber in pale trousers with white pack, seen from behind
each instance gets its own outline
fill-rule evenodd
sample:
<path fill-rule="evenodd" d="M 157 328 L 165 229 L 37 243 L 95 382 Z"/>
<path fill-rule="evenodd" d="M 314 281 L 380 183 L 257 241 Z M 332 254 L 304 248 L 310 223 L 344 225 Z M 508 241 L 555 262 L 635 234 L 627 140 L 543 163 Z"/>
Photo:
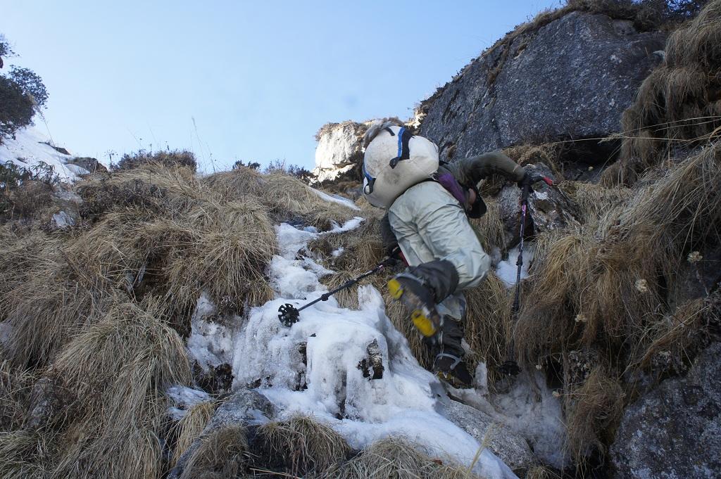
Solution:
<path fill-rule="evenodd" d="M 468 218 L 486 207 L 477 184 L 501 174 L 522 186 L 531 176 L 500 152 L 453 163 L 438 159 L 438 147 L 414 136 L 397 119 L 373 123 L 363 138 L 363 193 L 384 208 L 384 243 L 402 253 L 409 267 L 388 282 L 424 343 L 433 372 L 454 387 L 469 388 L 472 374 L 464 362 L 462 291 L 485 279 L 490 258 Z"/>

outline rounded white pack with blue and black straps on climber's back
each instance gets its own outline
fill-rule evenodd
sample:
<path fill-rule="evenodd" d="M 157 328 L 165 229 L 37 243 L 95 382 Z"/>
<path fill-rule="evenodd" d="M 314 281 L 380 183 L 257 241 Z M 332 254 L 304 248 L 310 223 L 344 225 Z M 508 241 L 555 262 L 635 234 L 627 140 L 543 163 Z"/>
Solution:
<path fill-rule="evenodd" d="M 437 170 L 435 143 L 411 135 L 404 127 L 384 125 L 363 155 L 363 194 L 371 205 L 387 209 L 405 190 L 433 178 Z"/>

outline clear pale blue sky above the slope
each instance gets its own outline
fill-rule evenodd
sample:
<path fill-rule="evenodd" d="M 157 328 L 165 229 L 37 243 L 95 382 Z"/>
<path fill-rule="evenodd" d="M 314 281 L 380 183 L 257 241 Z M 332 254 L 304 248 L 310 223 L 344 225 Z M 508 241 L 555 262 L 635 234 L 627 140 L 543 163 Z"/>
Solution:
<path fill-rule="evenodd" d="M 43 77 L 57 143 L 105 159 L 186 148 L 213 171 L 275 159 L 311 169 L 324 123 L 410 117 L 559 0 L 1 4 L 0 32 L 20 55 L 3 71 Z"/>

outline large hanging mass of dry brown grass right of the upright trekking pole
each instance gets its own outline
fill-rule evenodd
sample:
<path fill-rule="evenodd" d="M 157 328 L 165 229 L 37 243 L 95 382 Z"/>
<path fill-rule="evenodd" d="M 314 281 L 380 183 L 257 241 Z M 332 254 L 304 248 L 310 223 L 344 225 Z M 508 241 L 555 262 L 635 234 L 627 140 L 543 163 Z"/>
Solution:
<path fill-rule="evenodd" d="M 557 349 L 569 339 L 636 344 L 647 323 L 663 316 L 664 291 L 686 250 L 717 238 L 718 184 L 721 147 L 709 146 L 547 246 L 534 267 L 532 307 L 518 324 L 524 349 Z"/>

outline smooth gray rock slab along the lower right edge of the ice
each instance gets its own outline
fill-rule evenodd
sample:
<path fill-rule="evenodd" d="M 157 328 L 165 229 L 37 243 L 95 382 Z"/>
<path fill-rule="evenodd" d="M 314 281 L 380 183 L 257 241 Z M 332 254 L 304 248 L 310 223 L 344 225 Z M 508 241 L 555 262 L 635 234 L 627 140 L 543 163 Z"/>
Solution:
<path fill-rule="evenodd" d="M 459 426 L 478 442 L 483 443 L 486 440 L 488 449 L 519 477 L 523 477 L 528 469 L 538 463 L 526 439 L 508 426 L 493 421 L 486 413 L 456 400 L 443 401 L 441 408 L 441 413 L 448 421 Z"/>

